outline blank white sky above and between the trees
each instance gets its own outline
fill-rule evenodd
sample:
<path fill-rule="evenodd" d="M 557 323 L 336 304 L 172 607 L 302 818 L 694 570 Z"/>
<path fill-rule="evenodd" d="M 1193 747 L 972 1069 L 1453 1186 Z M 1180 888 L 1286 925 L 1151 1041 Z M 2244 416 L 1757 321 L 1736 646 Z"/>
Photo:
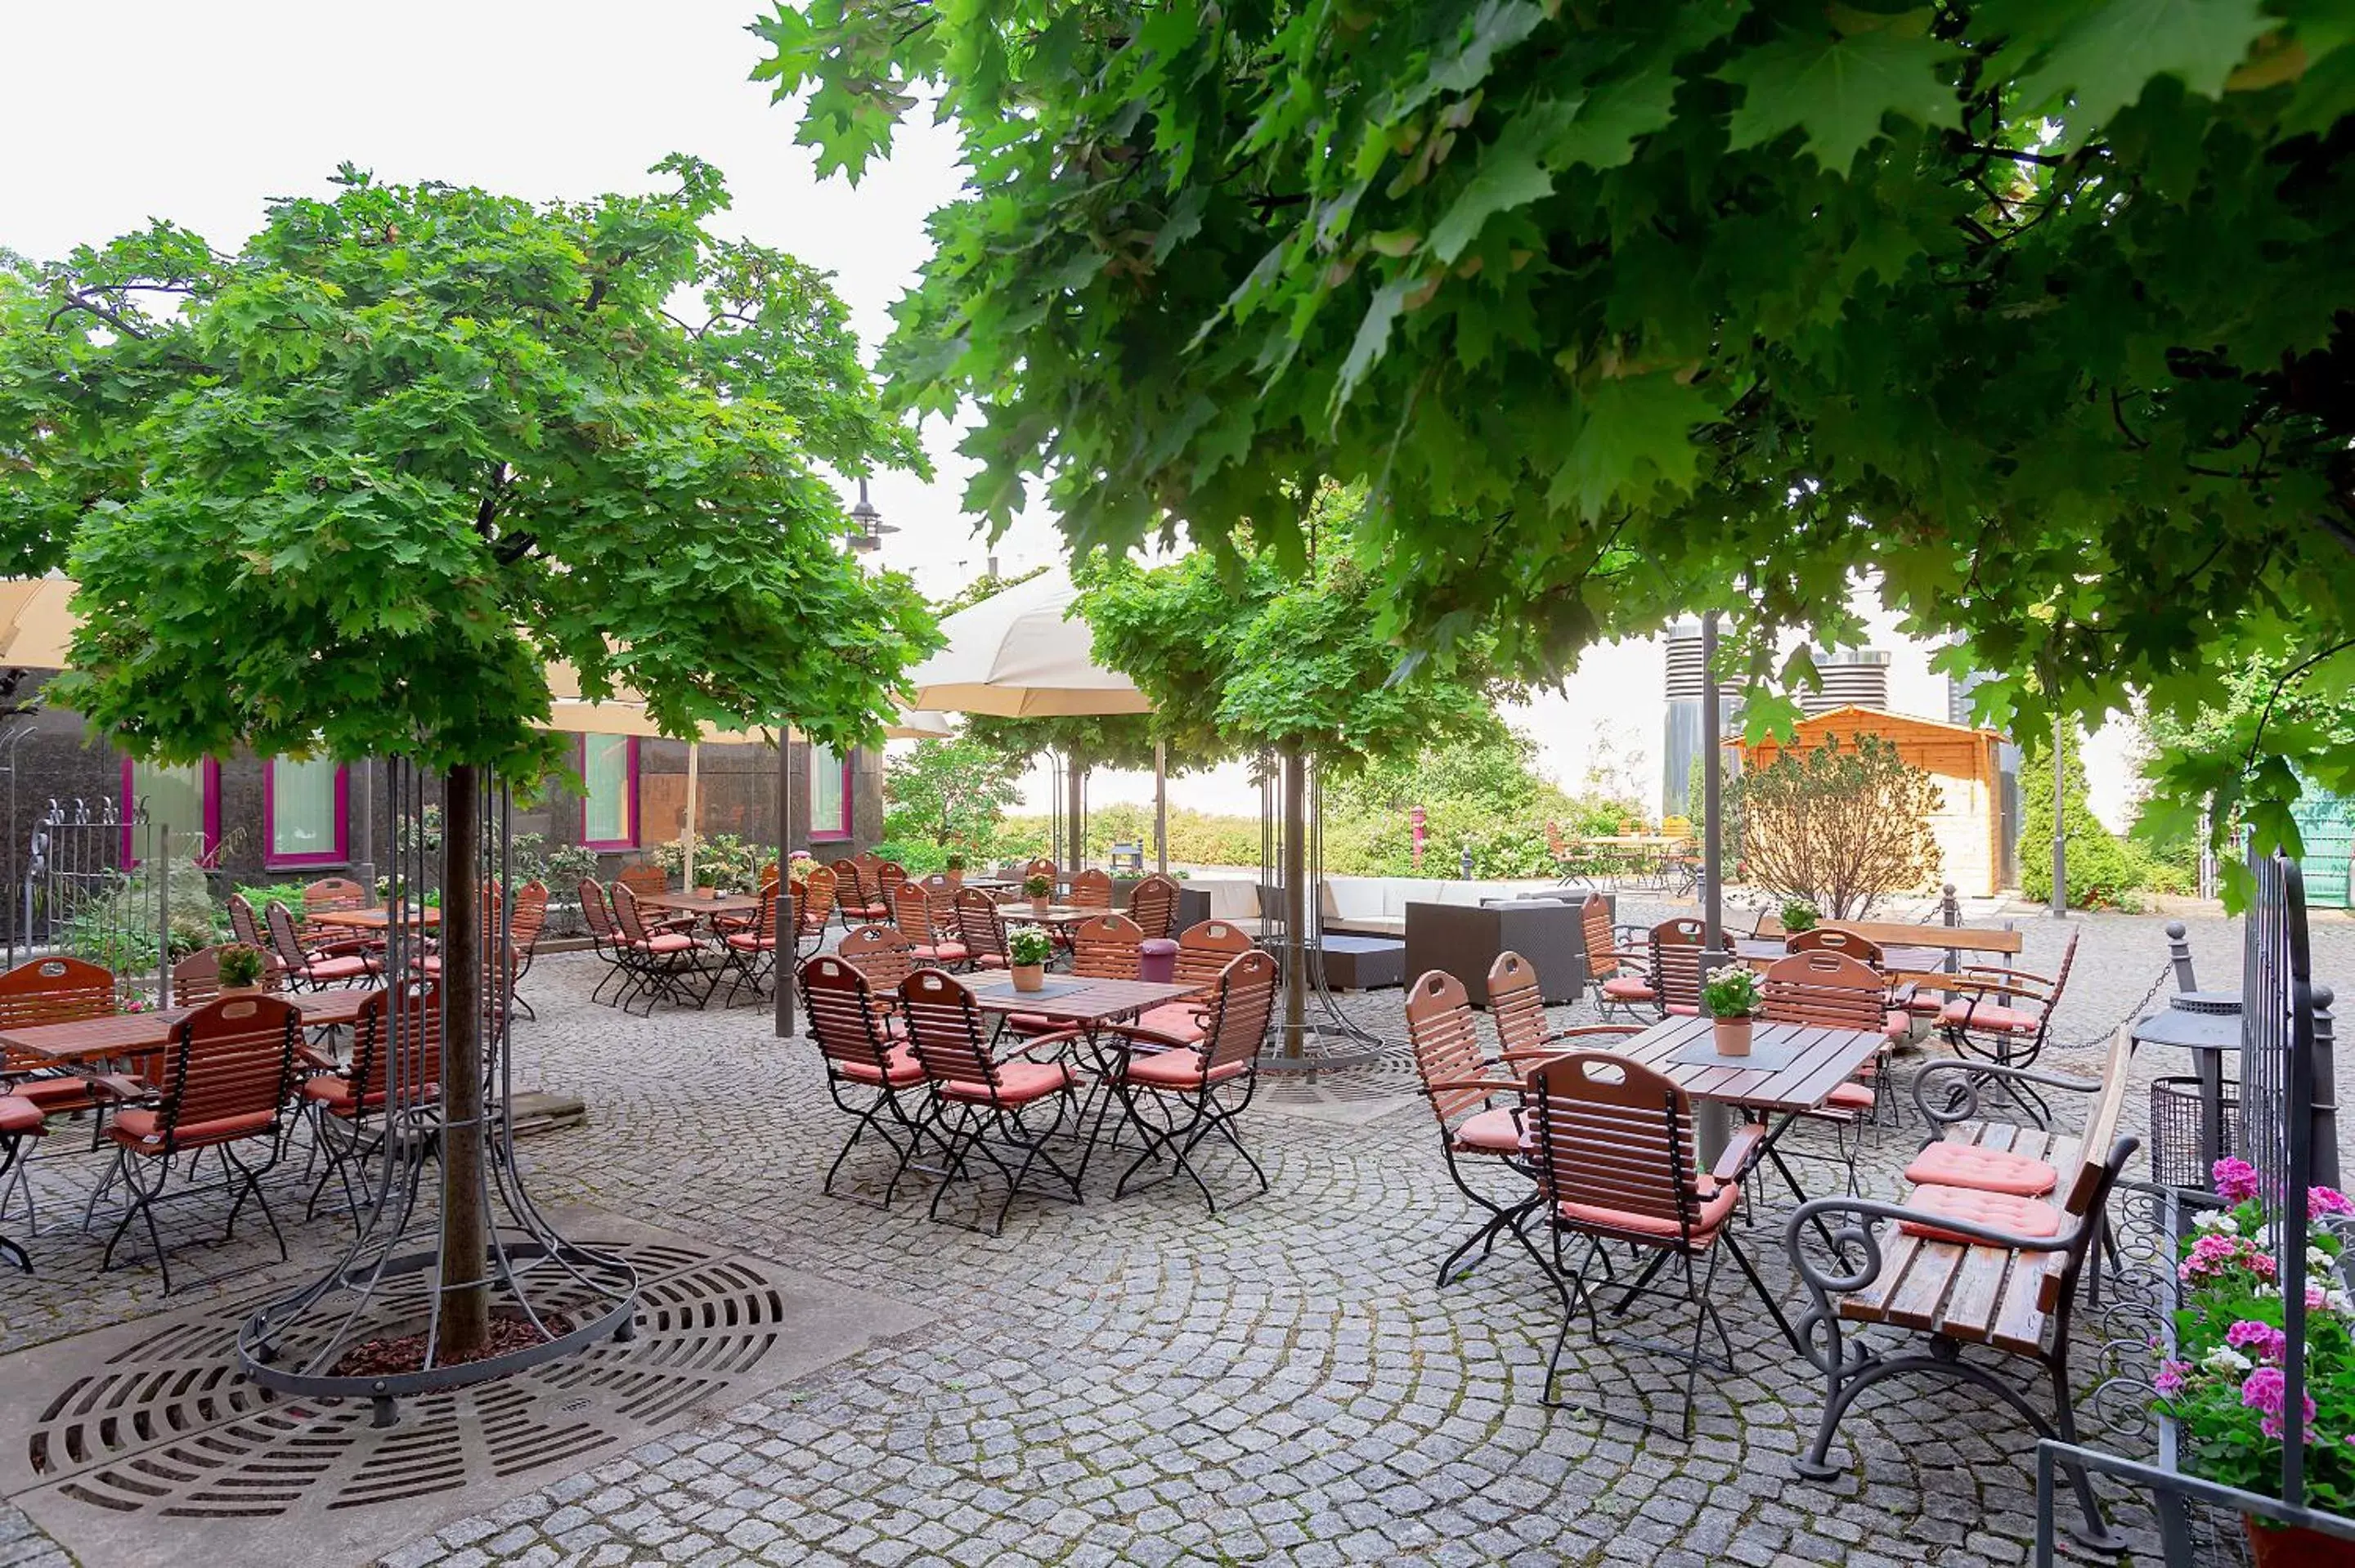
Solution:
<path fill-rule="evenodd" d="M 721 228 L 834 273 L 871 356 L 930 250 L 926 214 L 958 188 L 954 141 L 916 125 L 857 188 L 820 181 L 791 118 L 747 80 L 761 59 L 744 31 L 754 14 L 756 0 L 0 0 L 0 245 L 57 257 L 167 217 L 231 250 L 259 226 L 266 198 L 325 193 L 341 160 L 384 179 L 537 200 L 650 188 L 648 165 L 681 151 L 728 174 L 735 210 Z M 902 530 L 885 563 L 937 596 L 991 551 L 1008 572 L 1060 553 L 1039 516 L 996 546 L 977 539 L 958 511 L 970 466 L 937 421 L 926 438 L 940 471 L 930 485 L 871 485 Z M 1898 709 L 1945 716 L 1926 683 L 1917 699 L 1896 697 Z M 1571 789 L 1597 760 L 1597 737 L 1639 777 L 1656 775 L 1660 655 L 1594 650 L 1566 697 L 1519 720 Z M 2122 784 L 2115 763 L 2096 768 L 2105 817 L 2124 815 Z M 1178 805 L 1258 810 L 1241 770 L 1170 793 Z M 1043 779 L 1031 796 L 1043 808 Z M 1149 798 L 1149 775 L 1102 777 L 1090 798 Z"/>

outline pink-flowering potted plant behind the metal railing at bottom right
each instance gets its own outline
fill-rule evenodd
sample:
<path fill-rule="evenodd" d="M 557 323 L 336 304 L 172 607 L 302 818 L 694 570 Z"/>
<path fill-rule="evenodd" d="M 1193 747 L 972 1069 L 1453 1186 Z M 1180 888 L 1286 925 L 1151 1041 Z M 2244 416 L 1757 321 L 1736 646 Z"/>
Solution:
<path fill-rule="evenodd" d="M 2160 1408 L 2183 1429 L 2185 1469 L 2225 1486 L 2280 1495 L 2289 1351 L 2280 1264 L 2266 1250 L 2268 1212 L 2258 1172 L 2225 1158 L 2216 1194 L 2233 1208 L 2193 1220 L 2176 1262 L 2174 1354 L 2150 1380 Z M 2306 1504 L 2355 1511 L 2355 1297 L 2341 1271 L 2346 1241 L 2331 1229 L 2355 1203 L 2329 1187 L 2306 1194 Z M 2258 1568 L 2348 1568 L 2355 1540 L 2242 1514 Z"/>

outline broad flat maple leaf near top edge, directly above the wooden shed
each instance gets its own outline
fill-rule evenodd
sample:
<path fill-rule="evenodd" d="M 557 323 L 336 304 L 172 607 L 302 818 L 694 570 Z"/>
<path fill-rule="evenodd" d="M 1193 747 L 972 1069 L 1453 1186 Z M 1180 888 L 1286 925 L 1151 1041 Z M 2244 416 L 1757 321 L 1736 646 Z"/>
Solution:
<path fill-rule="evenodd" d="M 1835 174 L 1882 137 L 1882 115 L 1919 125 L 1962 125 L 1962 99 L 1938 80 L 1957 59 L 1933 38 L 1856 33 L 1851 38 L 1778 38 L 1733 59 L 1717 75 L 1743 89 L 1733 111 L 1733 148 L 1773 141 L 1806 127 L 1802 144 Z"/>

